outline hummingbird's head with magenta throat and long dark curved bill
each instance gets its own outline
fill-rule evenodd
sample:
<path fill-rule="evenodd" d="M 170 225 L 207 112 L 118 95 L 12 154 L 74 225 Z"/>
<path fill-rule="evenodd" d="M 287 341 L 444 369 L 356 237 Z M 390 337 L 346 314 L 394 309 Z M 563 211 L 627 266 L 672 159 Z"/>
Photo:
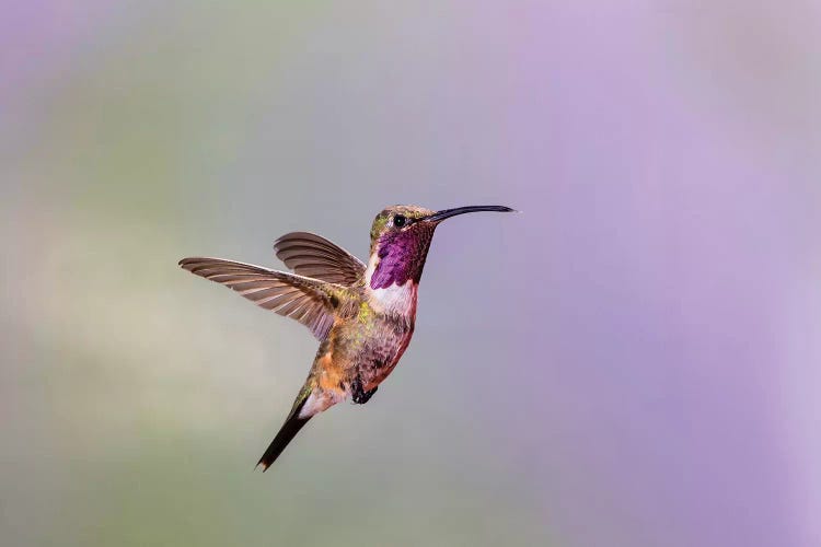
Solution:
<path fill-rule="evenodd" d="M 513 211 L 504 206 L 458 207 L 432 211 L 417 206 L 393 206 L 377 214 L 371 228 L 368 282 L 371 289 L 418 283 L 433 231 L 444 219 L 476 211 Z"/>

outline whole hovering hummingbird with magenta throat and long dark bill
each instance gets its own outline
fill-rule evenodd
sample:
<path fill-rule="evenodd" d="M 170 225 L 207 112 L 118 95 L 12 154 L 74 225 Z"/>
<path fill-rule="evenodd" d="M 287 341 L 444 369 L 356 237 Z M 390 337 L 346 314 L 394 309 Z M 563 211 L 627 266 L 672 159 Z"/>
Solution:
<path fill-rule="evenodd" d="M 257 467 L 267 470 L 317 414 L 348 398 L 358 405 L 370 400 L 414 334 L 416 294 L 433 231 L 446 219 L 477 211 L 513 209 L 388 207 L 373 220 L 368 264 L 309 232 L 287 233 L 274 243 L 292 272 L 222 258 L 180 260 L 192 274 L 297 319 L 320 340 L 308 379 Z"/>

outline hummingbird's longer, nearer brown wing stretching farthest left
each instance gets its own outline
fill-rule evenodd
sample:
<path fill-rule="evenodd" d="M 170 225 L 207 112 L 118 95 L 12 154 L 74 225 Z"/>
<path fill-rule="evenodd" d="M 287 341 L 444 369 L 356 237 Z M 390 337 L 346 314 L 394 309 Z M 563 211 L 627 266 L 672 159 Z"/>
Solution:
<path fill-rule="evenodd" d="M 233 289 L 256 305 L 292 317 L 323 340 L 334 324 L 344 287 L 285 271 L 222 258 L 190 257 L 180 266 Z"/>

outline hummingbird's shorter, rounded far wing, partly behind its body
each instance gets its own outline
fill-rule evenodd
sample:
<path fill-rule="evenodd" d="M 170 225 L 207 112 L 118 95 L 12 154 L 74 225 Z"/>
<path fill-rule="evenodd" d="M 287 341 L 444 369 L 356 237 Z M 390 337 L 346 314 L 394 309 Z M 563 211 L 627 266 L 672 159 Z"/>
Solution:
<path fill-rule="evenodd" d="M 309 232 L 291 232 L 274 243 L 277 257 L 300 276 L 351 286 L 365 277 L 365 264 L 344 248 Z"/>

